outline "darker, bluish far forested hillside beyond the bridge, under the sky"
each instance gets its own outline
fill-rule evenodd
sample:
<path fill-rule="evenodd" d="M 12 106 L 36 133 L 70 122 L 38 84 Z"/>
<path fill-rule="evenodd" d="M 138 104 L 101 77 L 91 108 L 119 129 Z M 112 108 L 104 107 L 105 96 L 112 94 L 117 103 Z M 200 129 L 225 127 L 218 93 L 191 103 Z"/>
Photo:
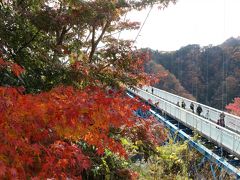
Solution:
<path fill-rule="evenodd" d="M 219 46 L 193 44 L 172 52 L 149 52 L 152 61 L 172 73 L 199 102 L 223 109 L 240 96 L 239 45 L 239 38 L 230 38 Z"/>

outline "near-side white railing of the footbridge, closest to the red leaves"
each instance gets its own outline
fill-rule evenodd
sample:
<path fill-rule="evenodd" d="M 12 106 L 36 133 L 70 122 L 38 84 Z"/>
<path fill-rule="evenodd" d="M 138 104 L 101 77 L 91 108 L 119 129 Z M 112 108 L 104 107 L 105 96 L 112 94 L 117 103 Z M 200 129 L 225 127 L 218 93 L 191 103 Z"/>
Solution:
<path fill-rule="evenodd" d="M 220 144 L 222 147 L 224 147 L 231 153 L 240 157 L 240 135 L 239 134 L 229 129 L 226 129 L 224 127 L 221 127 L 208 119 L 197 116 L 196 114 L 193 114 L 185 109 L 182 109 L 177 105 L 170 103 L 149 92 L 145 92 L 142 89 L 137 89 L 137 90 L 138 92 L 134 92 L 133 90 L 129 89 L 130 92 L 140 96 L 145 100 L 151 99 L 152 105 L 155 105 L 155 102 L 159 102 L 159 101 L 162 102 L 162 104 L 161 103 L 159 104 L 159 106 L 161 106 L 160 108 L 165 112 L 167 112 L 169 115 L 177 118 L 179 121 L 186 124 L 191 129 L 196 129 L 198 132 L 206 136 L 208 139 L 211 139 L 217 142 L 218 144 Z M 175 112 L 172 112 L 173 110 L 175 110 Z M 180 115 L 179 115 L 179 112 L 180 112 Z M 198 124 L 199 122 L 200 124 Z"/>

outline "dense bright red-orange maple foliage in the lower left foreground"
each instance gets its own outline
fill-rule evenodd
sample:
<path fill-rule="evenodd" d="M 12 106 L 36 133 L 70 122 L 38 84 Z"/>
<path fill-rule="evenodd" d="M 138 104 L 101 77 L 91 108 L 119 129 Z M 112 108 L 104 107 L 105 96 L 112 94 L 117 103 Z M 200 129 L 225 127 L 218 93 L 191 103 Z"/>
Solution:
<path fill-rule="evenodd" d="M 99 88 L 58 87 L 37 95 L 0 88 L 0 176 L 81 177 L 90 160 L 74 142 L 125 155 L 111 128 L 134 123 L 138 103 Z"/>

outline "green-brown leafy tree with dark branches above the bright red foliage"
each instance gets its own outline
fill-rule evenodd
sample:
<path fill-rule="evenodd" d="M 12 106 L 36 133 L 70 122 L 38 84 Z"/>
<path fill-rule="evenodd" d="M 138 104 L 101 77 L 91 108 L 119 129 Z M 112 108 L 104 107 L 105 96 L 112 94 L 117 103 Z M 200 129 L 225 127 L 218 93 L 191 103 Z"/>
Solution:
<path fill-rule="evenodd" d="M 170 2 L 175 0 L 2 1 L 0 57 L 25 68 L 23 82 L 13 85 L 23 85 L 27 92 L 59 84 L 83 87 L 92 79 L 103 85 L 136 85 L 146 76 L 140 73 L 144 55 L 118 34 L 140 23 L 124 17 L 133 9 Z M 74 63 L 84 70 L 73 70 Z"/>

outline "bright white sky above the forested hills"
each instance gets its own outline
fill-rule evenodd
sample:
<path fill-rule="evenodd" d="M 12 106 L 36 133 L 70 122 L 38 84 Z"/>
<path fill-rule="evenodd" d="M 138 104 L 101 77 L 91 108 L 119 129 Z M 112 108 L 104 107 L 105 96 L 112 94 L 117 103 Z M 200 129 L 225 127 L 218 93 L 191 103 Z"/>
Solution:
<path fill-rule="evenodd" d="M 143 22 L 148 9 L 128 13 L 127 19 Z M 135 39 L 137 31 L 123 32 Z M 178 0 L 164 10 L 154 7 L 137 39 L 137 47 L 162 51 L 188 44 L 218 45 L 240 36 L 240 0 Z"/>

